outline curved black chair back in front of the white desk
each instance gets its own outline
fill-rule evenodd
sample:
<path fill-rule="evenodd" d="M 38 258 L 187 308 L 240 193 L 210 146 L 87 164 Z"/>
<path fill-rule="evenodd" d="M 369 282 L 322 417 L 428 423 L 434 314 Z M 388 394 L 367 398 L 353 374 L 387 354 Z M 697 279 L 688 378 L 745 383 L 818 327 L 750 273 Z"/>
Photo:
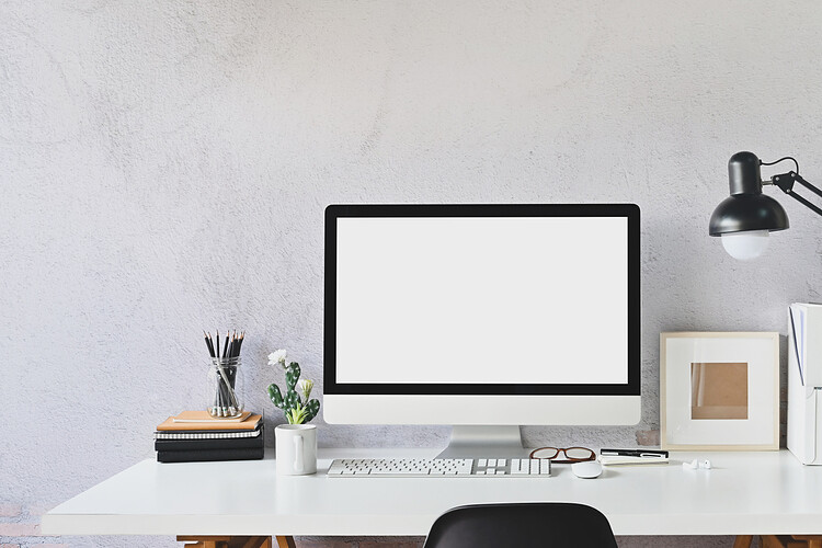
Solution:
<path fill-rule="evenodd" d="M 423 548 L 617 548 L 608 520 L 584 504 L 458 506 L 437 517 Z"/>

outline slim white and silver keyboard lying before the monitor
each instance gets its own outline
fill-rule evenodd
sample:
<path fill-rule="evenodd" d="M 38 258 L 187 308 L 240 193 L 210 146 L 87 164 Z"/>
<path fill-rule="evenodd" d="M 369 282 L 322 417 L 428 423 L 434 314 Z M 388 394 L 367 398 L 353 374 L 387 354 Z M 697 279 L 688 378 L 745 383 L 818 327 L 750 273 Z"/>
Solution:
<path fill-rule="evenodd" d="M 537 458 L 336 458 L 329 478 L 547 478 L 551 461 Z"/>

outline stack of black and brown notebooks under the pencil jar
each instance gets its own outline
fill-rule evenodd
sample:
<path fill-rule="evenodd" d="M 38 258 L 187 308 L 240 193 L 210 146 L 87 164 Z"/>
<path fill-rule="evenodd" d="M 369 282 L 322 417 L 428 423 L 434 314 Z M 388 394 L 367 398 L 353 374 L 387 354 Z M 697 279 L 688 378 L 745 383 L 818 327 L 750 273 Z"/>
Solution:
<path fill-rule="evenodd" d="M 263 420 L 249 411 L 237 419 L 215 419 L 207 411 L 183 411 L 157 426 L 155 449 L 159 463 L 260 459 Z"/>

